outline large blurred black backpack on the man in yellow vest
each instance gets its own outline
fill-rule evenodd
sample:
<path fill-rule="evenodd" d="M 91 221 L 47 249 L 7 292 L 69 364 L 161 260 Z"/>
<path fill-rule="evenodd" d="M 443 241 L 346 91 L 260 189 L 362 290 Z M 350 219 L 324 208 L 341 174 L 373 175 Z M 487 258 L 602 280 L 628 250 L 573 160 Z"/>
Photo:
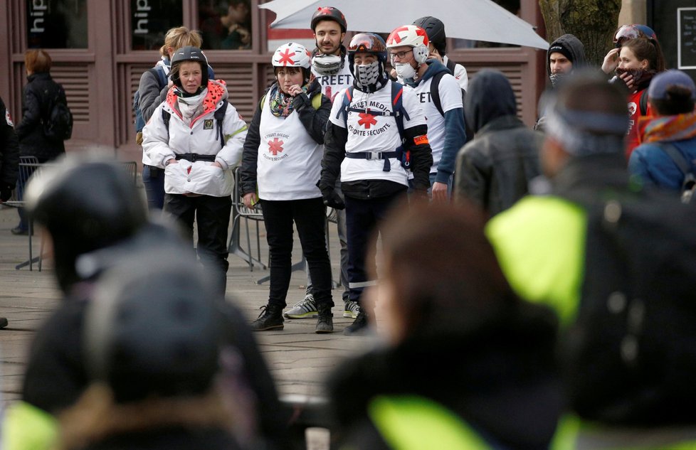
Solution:
<path fill-rule="evenodd" d="M 660 192 L 588 209 L 578 316 L 564 335 L 571 409 L 604 424 L 696 419 L 696 210 Z"/>

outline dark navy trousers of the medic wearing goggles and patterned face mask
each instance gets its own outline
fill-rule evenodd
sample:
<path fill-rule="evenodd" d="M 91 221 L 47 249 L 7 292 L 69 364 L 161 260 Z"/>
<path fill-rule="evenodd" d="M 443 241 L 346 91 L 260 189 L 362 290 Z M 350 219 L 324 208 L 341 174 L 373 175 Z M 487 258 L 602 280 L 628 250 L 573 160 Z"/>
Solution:
<path fill-rule="evenodd" d="M 389 214 L 396 200 L 406 195 L 405 190 L 386 197 L 362 200 L 346 195 L 346 227 L 348 235 L 348 286 L 349 298 L 360 303 L 365 287 L 374 284 L 368 274 L 375 273 L 374 260 L 367 260 L 368 245 L 379 230 L 382 220 Z M 374 250 L 374 249 L 371 249 Z"/>

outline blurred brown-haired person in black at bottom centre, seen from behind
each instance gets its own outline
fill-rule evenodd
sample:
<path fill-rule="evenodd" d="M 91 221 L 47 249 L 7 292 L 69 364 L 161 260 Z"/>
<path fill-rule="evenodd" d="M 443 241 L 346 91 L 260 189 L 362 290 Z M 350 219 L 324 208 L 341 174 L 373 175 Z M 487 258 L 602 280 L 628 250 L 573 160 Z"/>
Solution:
<path fill-rule="evenodd" d="M 371 288 L 385 345 L 329 380 L 337 448 L 548 449 L 561 412 L 552 312 L 512 293 L 475 208 L 394 211 Z"/>

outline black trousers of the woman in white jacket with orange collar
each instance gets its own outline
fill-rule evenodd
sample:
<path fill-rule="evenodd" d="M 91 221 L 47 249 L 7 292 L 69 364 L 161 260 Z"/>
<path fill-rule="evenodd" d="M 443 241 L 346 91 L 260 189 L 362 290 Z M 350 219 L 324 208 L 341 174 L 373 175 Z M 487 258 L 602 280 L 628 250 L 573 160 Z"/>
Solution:
<path fill-rule="evenodd" d="M 198 224 L 197 252 L 201 264 L 210 269 L 218 280 L 218 289 L 225 292 L 227 286 L 227 229 L 230 225 L 232 198 L 199 195 L 187 197 L 180 194 L 164 195 L 164 213 L 179 220 L 184 230 L 194 240 L 194 218 Z"/>

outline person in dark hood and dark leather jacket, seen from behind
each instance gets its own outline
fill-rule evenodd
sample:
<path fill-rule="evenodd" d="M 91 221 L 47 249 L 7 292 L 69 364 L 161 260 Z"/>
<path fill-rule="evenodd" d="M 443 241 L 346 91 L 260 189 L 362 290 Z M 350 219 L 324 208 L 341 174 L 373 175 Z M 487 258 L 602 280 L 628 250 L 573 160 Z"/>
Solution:
<path fill-rule="evenodd" d="M 541 174 L 542 134 L 517 117 L 515 92 L 497 70 L 481 70 L 469 85 L 466 120 L 475 132 L 457 156 L 455 200 L 468 200 L 492 217 L 526 195 Z"/>

